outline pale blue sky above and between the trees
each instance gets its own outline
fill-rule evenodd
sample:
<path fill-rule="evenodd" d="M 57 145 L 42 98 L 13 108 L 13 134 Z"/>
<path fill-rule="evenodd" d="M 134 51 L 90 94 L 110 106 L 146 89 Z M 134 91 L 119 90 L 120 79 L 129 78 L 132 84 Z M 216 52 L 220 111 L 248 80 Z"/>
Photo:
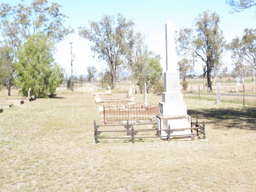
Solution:
<path fill-rule="evenodd" d="M 3 0 L 1 0 L 3 2 Z M 103 15 L 117 15 L 121 13 L 127 19 L 135 23 L 134 30 L 145 35 L 145 43 L 150 51 L 161 56 L 161 66 L 165 70 L 165 23 L 171 19 L 175 24 L 175 30 L 180 28 L 194 28 L 195 18 L 204 11 L 216 12 L 220 16 L 219 28 L 227 43 L 235 37 L 241 37 L 245 28 L 256 27 L 255 8 L 246 9 L 243 12 L 230 14 L 231 7 L 225 0 L 48 0 L 49 3 L 58 3 L 61 12 L 69 18 L 65 26 L 71 26 L 74 33 L 65 40 L 56 44 L 55 61 L 65 68 L 68 74 L 71 71 L 70 65 L 70 42 L 73 43 L 74 75 L 87 74 L 87 67 L 95 65 L 100 71 L 107 65 L 96 58 L 90 50 L 91 42 L 81 38 L 78 34 L 78 27 L 89 28 L 88 21 L 99 21 Z M 25 0 L 31 3 L 32 0 Z M 17 5 L 19 0 L 4 0 L 4 3 Z M 231 65 L 230 53 L 225 52 L 222 58 L 227 63 L 229 71 Z M 195 73 L 203 73 L 201 62 L 195 67 Z"/>

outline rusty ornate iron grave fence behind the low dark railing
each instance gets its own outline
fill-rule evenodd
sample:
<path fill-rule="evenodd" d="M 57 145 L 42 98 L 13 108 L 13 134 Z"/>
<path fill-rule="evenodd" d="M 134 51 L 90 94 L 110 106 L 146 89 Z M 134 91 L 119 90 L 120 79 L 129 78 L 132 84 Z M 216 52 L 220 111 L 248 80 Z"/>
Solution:
<path fill-rule="evenodd" d="M 159 103 L 139 105 L 103 105 L 104 124 L 124 122 L 154 122 L 159 113 Z"/>

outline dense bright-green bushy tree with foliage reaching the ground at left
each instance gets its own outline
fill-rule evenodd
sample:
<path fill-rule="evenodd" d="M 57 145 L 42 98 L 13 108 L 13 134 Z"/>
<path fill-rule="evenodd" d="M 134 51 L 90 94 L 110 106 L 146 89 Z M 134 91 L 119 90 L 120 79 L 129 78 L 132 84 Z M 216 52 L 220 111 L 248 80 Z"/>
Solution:
<path fill-rule="evenodd" d="M 47 97 L 55 92 L 63 80 L 61 67 L 54 62 L 52 45 L 43 34 L 32 35 L 17 52 L 15 63 L 17 84 L 23 96 L 31 88 L 37 97 Z"/>

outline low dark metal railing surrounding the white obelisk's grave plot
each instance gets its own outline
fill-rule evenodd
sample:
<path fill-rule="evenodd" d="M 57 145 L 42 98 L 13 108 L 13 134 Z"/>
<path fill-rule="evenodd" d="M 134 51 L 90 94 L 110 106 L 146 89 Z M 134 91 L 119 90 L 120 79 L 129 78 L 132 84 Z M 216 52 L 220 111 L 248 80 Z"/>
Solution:
<path fill-rule="evenodd" d="M 205 140 L 205 124 L 203 123 L 202 125 L 198 124 L 198 120 L 196 120 L 196 122 L 191 122 L 191 127 L 190 128 L 177 128 L 177 129 L 171 129 L 170 125 L 168 126 L 168 129 L 137 129 L 134 130 L 134 126 L 135 125 L 156 125 L 156 123 L 134 123 L 134 124 L 129 124 L 129 122 L 127 122 L 126 124 L 116 124 L 116 125 L 96 125 L 96 122 L 94 121 L 94 138 L 95 138 L 95 143 L 98 143 L 98 139 L 130 139 L 132 143 L 134 143 L 134 139 L 143 139 L 143 138 L 167 138 L 167 141 L 169 142 L 173 137 L 181 137 L 181 136 L 192 136 L 192 135 L 203 135 L 203 140 Z M 99 127 L 103 127 L 103 126 L 124 126 L 126 130 L 103 130 L 103 131 L 99 131 L 98 128 Z M 193 125 L 195 125 L 195 127 L 193 127 Z M 131 128 L 131 130 L 129 130 Z M 191 134 L 180 134 L 180 135 L 174 135 L 171 136 L 171 134 L 174 131 L 184 131 L 184 130 L 188 130 L 191 129 Z M 193 131 L 196 131 L 196 133 L 194 133 Z M 149 131 L 156 131 L 155 136 L 138 136 L 138 137 L 134 137 L 134 135 L 136 135 L 138 132 L 149 132 Z M 160 131 L 166 131 L 167 132 L 167 136 L 160 136 L 159 132 Z M 130 137 L 99 137 L 99 135 L 101 133 L 123 133 L 126 132 L 127 136 Z M 172 138 L 171 138 L 172 137 Z"/>

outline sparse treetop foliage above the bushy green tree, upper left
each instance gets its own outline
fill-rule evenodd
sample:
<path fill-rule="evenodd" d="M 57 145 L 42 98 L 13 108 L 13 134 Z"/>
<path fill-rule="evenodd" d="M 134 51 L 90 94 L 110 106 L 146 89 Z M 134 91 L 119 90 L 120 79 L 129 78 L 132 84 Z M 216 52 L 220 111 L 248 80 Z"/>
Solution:
<path fill-rule="evenodd" d="M 33 0 L 30 5 L 19 3 L 10 6 L 2 3 L 0 6 L 0 27 L 14 47 L 20 47 L 30 35 L 44 33 L 47 38 L 59 42 L 73 32 L 71 27 L 64 27 L 67 18 L 60 12 L 61 6 L 52 3 L 47 6 L 47 0 Z"/>

